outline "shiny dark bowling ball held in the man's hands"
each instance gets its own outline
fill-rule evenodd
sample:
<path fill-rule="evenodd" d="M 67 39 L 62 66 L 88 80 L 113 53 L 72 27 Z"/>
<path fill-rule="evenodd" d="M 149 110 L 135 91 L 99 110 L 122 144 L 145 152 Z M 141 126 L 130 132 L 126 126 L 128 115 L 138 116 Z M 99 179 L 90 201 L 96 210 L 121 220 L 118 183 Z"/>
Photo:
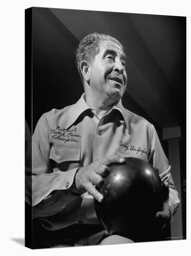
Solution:
<path fill-rule="evenodd" d="M 156 212 L 163 206 L 162 182 L 148 162 L 125 159 L 123 165 L 111 165 L 104 185 L 96 188 L 104 195 L 103 202 L 94 199 L 96 215 L 109 233 L 144 234 L 153 228 Z"/>

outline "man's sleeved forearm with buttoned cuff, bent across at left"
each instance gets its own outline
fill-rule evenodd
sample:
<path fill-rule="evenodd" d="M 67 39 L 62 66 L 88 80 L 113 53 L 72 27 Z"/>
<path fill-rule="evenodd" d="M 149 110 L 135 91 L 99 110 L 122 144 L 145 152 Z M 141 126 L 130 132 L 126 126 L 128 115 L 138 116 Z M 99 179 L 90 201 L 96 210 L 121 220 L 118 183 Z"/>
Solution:
<path fill-rule="evenodd" d="M 33 217 L 56 214 L 81 195 L 74 180 L 77 169 L 32 175 Z"/>

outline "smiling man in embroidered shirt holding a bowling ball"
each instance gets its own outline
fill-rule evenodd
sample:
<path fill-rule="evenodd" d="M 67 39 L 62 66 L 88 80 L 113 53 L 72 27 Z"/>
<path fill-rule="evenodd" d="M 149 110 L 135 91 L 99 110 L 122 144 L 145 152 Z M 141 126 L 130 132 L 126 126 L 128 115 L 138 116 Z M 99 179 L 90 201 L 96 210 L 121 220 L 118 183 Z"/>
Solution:
<path fill-rule="evenodd" d="M 42 115 L 33 135 L 32 214 L 50 230 L 51 246 L 130 243 L 128 237 L 103 230 L 93 205 L 103 195 L 95 185 L 101 187 L 109 166 L 125 163 L 125 156 L 150 162 L 167 195 L 156 213 L 163 228 L 179 203 L 171 167 L 153 125 L 121 104 L 127 85 L 121 43 L 109 35 L 89 34 L 80 42 L 76 60 L 85 93 L 76 104 Z"/>

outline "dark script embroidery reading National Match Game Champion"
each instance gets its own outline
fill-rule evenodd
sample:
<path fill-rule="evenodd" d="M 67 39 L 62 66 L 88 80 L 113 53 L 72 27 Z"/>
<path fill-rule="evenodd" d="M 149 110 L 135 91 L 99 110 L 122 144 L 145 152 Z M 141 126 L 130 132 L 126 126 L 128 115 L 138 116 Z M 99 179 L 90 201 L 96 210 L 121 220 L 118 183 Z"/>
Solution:
<path fill-rule="evenodd" d="M 81 135 L 77 134 L 77 128 L 65 129 L 57 125 L 56 129 L 50 129 L 50 135 L 52 140 L 59 140 L 70 142 L 78 142 L 77 138 L 81 138 Z"/>

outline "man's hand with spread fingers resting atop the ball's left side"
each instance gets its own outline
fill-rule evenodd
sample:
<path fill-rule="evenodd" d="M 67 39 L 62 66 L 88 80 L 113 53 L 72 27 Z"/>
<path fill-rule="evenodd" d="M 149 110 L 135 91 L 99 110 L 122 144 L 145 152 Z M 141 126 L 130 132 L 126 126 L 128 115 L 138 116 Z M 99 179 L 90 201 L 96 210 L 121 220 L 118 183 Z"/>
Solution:
<path fill-rule="evenodd" d="M 103 186 L 104 178 L 110 174 L 111 164 L 125 164 L 125 162 L 124 158 L 112 155 L 79 168 L 75 179 L 77 190 L 81 193 L 88 191 L 97 201 L 102 202 L 103 195 L 96 190 L 94 185 L 98 188 Z"/>

